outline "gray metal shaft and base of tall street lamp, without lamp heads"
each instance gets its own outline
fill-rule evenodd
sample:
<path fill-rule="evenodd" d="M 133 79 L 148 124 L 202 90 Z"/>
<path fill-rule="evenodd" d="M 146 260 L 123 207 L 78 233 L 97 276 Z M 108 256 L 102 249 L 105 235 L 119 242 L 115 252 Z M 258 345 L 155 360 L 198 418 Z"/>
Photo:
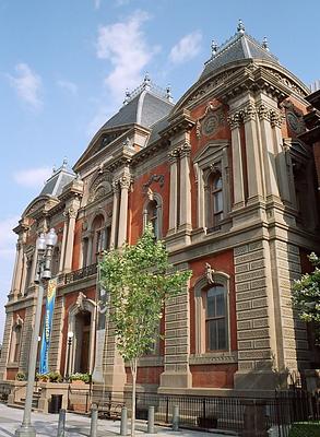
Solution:
<path fill-rule="evenodd" d="M 39 285 L 38 285 L 35 324 L 34 324 L 34 330 L 33 330 L 32 341 L 31 341 L 31 349 L 29 349 L 27 385 L 26 385 L 26 395 L 25 395 L 25 404 L 24 404 L 24 412 L 23 412 L 23 421 L 22 421 L 21 426 L 15 430 L 15 437 L 35 437 L 36 436 L 36 429 L 31 424 L 31 413 L 32 413 L 35 371 L 36 371 L 37 346 L 38 346 L 38 335 L 39 335 L 40 319 L 42 319 L 43 298 L 44 298 L 44 285 L 40 281 Z"/>

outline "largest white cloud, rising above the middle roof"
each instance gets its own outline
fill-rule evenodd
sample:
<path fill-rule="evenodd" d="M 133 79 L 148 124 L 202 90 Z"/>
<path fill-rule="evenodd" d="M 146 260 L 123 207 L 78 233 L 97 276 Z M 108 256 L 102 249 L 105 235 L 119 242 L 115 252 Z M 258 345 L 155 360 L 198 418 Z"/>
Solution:
<path fill-rule="evenodd" d="M 103 26 L 98 31 L 96 54 L 112 64 L 112 71 L 105 79 L 114 97 L 123 99 L 125 90 L 132 90 L 142 80 L 142 72 L 157 47 L 150 47 L 142 31 L 142 24 L 150 19 L 143 11 L 137 11 L 127 21 Z"/>

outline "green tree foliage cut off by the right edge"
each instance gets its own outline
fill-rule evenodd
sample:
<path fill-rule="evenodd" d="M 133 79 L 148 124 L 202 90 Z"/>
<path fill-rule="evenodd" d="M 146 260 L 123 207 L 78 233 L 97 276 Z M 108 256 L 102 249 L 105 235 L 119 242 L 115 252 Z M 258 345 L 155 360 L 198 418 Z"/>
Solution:
<path fill-rule="evenodd" d="M 320 258 L 312 252 L 309 257 L 315 270 L 295 281 L 293 303 L 301 320 L 313 322 L 316 340 L 320 341 Z"/>

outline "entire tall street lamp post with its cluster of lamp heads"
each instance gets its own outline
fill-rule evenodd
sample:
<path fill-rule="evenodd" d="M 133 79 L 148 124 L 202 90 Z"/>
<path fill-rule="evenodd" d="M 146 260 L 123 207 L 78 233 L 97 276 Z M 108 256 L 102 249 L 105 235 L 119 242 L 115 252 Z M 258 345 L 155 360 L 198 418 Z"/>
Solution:
<path fill-rule="evenodd" d="M 28 358 L 27 385 L 26 385 L 23 420 L 21 426 L 15 430 L 15 437 L 36 436 L 36 429 L 34 426 L 32 426 L 31 423 L 34 379 L 35 379 L 36 361 L 37 361 L 37 347 L 38 347 L 38 336 L 39 336 L 39 328 L 42 319 L 44 287 L 51 277 L 50 265 L 52 258 L 52 249 L 56 244 L 57 244 L 57 234 L 54 228 L 51 228 L 47 234 L 44 233 L 40 234 L 36 241 L 37 267 L 35 274 L 35 284 L 38 284 L 38 296 L 37 296 L 35 322 L 32 333 L 29 358 Z"/>

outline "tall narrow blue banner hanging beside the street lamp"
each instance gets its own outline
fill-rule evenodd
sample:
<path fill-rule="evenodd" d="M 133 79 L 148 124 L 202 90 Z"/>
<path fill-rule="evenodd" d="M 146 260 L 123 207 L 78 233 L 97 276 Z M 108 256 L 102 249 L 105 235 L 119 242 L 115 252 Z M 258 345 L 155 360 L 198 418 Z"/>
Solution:
<path fill-rule="evenodd" d="M 39 359 L 39 374 L 40 375 L 47 374 L 49 371 L 48 355 L 49 355 L 50 336 L 51 336 L 51 329 L 52 329 L 56 290 L 57 290 L 57 279 L 55 277 L 48 282 L 46 314 L 45 314 L 45 319 L 44 319 L 44 329 L 43 329 L 43 335 L 42 335 L 42 350 L 40 350 L 40 359 Z"/>

